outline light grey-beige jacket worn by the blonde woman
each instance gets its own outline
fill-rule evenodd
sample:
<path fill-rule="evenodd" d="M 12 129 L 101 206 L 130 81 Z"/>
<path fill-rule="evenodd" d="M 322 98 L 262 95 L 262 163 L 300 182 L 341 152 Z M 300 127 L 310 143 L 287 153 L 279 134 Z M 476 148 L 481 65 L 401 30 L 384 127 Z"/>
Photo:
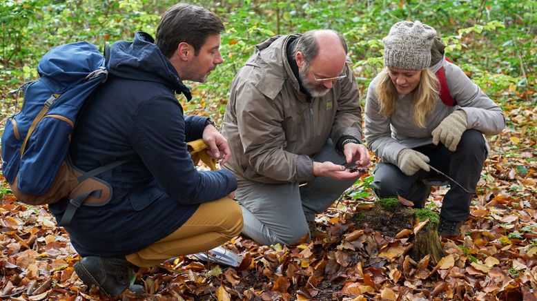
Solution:
<path fill-rule="evenodd" d="M 391 118 L 380 113 L 375 94 L 376 78 L 371 81 L 365 105 L 365 138 L 367 145 L 384 162 L 397 165 L 397 157 L 403 148 L 416 148 L 433 143 L 432 131 L 454 110 L 464 110 L 468 129 L 480 130 L 485 135 L 496 135 L 505 127 L 501 108 L 460 68 L 440 59 L 431 66 L 436 72 L 444 68 L 449 93 L 456 99 L 456 106 L 448 106 L 438 97 L 433 112 L 427 117 L 425 128 L 420 128 L 413 118 L 413 93 L 400 95 Z"/>

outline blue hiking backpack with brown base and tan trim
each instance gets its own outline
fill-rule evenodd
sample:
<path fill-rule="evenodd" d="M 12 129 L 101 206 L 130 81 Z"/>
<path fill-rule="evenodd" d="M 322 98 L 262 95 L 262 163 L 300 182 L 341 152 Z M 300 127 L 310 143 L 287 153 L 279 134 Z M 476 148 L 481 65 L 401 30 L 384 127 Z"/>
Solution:
<path fill-rule="evenodd" d="M 40 78 L 17 90 L 19 113 L 8 117 L 1 139 L 2 171 L 19 202 L 51 204 L 68 197 L 60 225 L 68 224 L 84 203 L 103 206 L 109 184 L 95 177 L 124 162 L 85 173 L 70 162 L 69 143 L 77 117 L 93 91 L 106 81 L 106 57 L 86 41 L 52 48 L 39 61 Z M 16 105 L 17 105 L 17 101 Z"/>

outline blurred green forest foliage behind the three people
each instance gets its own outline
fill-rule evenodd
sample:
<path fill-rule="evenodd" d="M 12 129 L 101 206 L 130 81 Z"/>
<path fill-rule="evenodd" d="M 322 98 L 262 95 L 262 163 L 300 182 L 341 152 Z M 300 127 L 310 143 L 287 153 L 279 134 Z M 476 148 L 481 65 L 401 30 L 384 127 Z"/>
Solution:
<path fill-rule="evenodd" d="M 224 20 L 224 64 L 206 84 L 192 84 L 195 99 L 186 113 L 224 113 L 228 90 L 254 46 L 272 35 L 316 28 L 338 30 L 362 98 L 382 68 L 382 37 L 397 21 L 420 20 L 438 30 L 447 56 L 496 101 L 536 104 L 537 1 L 433 0 L 186 1 L 214 11 Z M 4 0 L 0 3 L 0 85 L 3 92 L 37 77 L 35 66 L 52 46 L 87 40 L 132 39 L 144 30 L 154 35 L 160 15 L 175 1 L 156 0 Z M 3 108 L 11 104 L 4 95 Z M 3 109 L 5 110 L 5 109 Z"/>

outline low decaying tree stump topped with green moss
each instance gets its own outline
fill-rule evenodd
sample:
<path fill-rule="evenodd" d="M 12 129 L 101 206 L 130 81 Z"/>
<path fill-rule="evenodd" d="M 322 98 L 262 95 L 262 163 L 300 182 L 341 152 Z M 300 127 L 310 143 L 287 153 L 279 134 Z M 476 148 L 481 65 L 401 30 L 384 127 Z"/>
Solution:
<path fill-rule="evenodd" d="M 433 264 L 445 256 L 437 231 L 438 214 L 427 208 L 413 209 L 396 198 L 387 198 L 375 202 L 370 210 L 355 214 L 353 220 L 358 226 L 369 226 L 389 237 L 395 237 L 403 229 L 414 229 L 417 222 L 429 220 L 413 237 L 409 255 L 416 262 L 430 255 Z"/>

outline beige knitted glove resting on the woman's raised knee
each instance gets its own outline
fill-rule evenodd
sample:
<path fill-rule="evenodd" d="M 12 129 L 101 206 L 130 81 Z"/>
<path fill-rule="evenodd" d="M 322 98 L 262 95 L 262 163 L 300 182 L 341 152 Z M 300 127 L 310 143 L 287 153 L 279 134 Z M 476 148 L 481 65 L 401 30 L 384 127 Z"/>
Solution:
<path fill-rule="evenodd" d="M 433 130 L 433 144 L 437 145 L 438 142 L 442 142 L 450 151 L 454 152 L 467 126 L 466 112 L 464 110 L 456 110 L 447 115 Z"/>

